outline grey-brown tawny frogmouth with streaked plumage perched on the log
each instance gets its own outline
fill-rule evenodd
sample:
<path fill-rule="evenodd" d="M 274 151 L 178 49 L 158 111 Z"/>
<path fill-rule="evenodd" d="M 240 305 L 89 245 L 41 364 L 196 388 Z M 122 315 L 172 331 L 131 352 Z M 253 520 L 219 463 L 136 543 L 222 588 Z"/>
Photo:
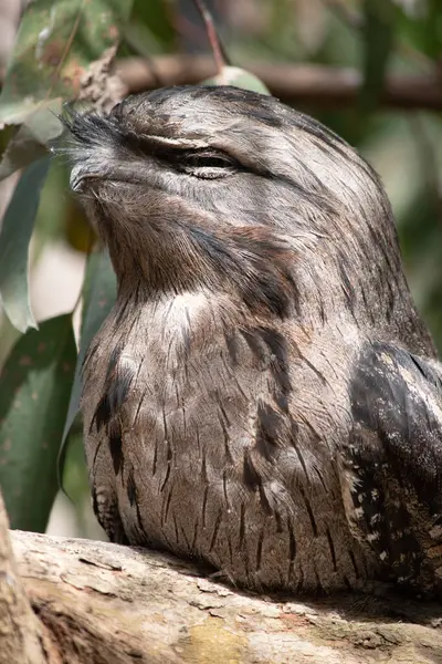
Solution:
<path fill-rule="evenodd" d="M 260 593 L 440 596 L 442 367 L 375 170 L 234 86 L 64 122 L 118 284 L 81 401 L 109 540 Z"/>

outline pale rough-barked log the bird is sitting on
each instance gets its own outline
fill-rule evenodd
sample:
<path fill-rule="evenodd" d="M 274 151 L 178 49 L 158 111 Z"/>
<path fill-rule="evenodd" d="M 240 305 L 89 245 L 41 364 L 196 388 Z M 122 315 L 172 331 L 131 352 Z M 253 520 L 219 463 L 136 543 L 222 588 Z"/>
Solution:
<path fill-rule="evenodd" d="M 51 643 L 45 660 L 0 655 L 1 663 L 442 662 L 438 605 L 369 596 L 272 600 L 233 591 L 152 551 L 19 531 L 11 538 Z M 3 611 L 2 637 L 6 620 Z"/>

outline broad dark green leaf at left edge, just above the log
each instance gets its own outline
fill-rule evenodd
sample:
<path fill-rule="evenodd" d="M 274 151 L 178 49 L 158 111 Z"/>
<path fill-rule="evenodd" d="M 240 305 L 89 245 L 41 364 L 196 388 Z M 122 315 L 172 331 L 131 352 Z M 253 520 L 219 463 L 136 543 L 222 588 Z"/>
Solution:
<path fill-rule="evenodd" d="M 46 527 L 75 357 L 64 314 L 21 336 L 0 376 L 0 485 L 12 528 Z"/>

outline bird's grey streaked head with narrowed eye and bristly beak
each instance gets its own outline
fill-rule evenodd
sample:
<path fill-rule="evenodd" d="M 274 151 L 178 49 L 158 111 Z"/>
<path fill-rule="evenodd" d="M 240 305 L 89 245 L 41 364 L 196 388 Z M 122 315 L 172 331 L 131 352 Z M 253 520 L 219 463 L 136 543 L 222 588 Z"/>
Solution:
<path fill-rule="evenodd" d="M 71 187 L 109 247 L 120 289 L 134 280 L 146 292 L 230 289 L 284 317 L 304 300 L 323 313 L 341 299 L 379 304 L 383 282 L 401 277 L 373 170 L 274 97 L 170 87 L 67 125 Z M 379 292 L 365 295 L 370 289 Z"/>

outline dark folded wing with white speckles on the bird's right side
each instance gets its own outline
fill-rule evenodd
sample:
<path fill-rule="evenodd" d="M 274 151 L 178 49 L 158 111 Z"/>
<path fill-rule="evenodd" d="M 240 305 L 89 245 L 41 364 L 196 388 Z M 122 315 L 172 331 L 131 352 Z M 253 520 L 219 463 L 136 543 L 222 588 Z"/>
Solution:
<path fill-rule="evenodd" d="M 349 387 L 354 429 L 344 470 L 356 537 L 396 578 L 421 587 L 442 578 L 441 377 L 438 363 L 375 343 Z"/>

